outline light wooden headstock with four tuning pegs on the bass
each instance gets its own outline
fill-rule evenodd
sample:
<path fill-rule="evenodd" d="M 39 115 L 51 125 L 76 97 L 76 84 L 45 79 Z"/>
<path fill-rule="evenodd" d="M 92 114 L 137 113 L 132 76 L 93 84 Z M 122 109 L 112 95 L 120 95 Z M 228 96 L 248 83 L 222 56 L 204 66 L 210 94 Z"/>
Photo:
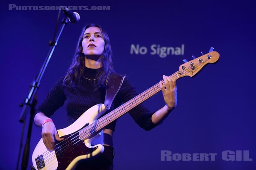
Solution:
<path fill-rule="evenodd" d="M 189 62 L 179 66 L 177 74 L 179 77 L 190 76 L 197 74 L 206 64 L 217 62 L 220 54 L 217 51 L 209 52 L 203 56 L 197 57 Z"/>

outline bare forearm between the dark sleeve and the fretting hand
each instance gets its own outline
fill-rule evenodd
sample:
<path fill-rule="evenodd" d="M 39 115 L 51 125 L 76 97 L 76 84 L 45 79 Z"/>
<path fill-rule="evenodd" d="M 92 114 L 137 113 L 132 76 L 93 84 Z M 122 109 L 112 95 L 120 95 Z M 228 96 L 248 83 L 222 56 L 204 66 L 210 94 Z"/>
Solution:
<path fill-rule="evenodd" d="M 154 124 L 158 124 L 160 122 L 163 122 L 171 113 L 171 111 L 173 111 L 174 108 L 169 108 L 167 105 L 165 105 L 164 107 L 160 108 L 158 111 L 156 111 L 151 119 L 152 122 Z"/>

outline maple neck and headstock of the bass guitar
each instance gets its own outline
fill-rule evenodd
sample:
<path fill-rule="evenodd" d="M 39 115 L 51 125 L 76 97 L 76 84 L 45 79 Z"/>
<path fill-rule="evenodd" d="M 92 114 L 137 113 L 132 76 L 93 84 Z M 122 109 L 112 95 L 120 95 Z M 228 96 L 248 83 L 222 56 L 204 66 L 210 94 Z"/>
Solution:
<path fill-rule="evenodd" d="M 203 68 L 203 66 L 205 66 L 208 63 L 217 62 L 218 59 L 219 59 L 218 52 L 212 51 L 208 54 L 205 54 L 189 62 L 186 62 L 183 65 L 180 65 L 179 71 L 175 72 L 169 77 L 172 77 L 175 80 L 185 76 L 193 77 Z M 162 80 L 162 83 L 165 87 L 164 80 Z M 153 96 L 154 94 L 158 93 L 160 90 L 161 88 L 159 83 L 157 83 L 156 85 L 153 85 L 151 88 L 142 92 L 138 96 L 135 96 L 133 99 L 130 99 L 128 102 L 124 103 L 123 105 L 119 106 L 115 110 L 109 112 L 105 116 L 101 117 L 100 119 L 97 119 L 95 122 L 91 123 L 90 125 L 80 130 L 80 138 L 84 140 L 88 136 L 90 136 L 92 133 L 95 133 L 103 129 L 103 127 L 115 121 L 119 117 L 123 116 L 129 110 L 131 110 L 132 108 L 135 108 L 137 105 L 141 104 L 142 102 L 144 102 L 145 100 Z"/>

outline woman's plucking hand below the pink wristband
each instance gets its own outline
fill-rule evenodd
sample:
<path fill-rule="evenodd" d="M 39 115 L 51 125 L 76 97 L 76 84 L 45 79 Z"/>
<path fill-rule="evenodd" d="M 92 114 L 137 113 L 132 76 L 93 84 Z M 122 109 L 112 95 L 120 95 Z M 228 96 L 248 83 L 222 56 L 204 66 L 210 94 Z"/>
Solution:
<path fill-rule="evenodd" d="M 59 138 L 56 127 L 53 122 L 44 123 L 43 129 L 42 129 L 42 138 L 43 138 L 44 145 L 47 147 L 48 150 L 54 150 L 55 139 L 57 141 L 64 140 Z"/>

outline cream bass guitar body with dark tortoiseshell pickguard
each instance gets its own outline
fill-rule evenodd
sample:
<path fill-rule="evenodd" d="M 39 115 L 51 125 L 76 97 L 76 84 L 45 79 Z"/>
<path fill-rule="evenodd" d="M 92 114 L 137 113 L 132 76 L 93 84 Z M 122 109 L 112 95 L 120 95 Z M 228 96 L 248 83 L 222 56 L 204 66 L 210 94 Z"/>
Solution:
<path fill-rule="evenodd" d="M 34 168 L 36 170 L 72 170 L 79 161 L 91 159 L 103 153 L 103 145 L 91 146 L 91 142 L 101 133 L 90 136 L 90 139 L 81 140 L 80 133 L 77 132 L 95 122 L 105 112 L 104 104 L 94 105 L 72 125 L 57 130 L 59 137 L 65 140 L 59 142 L 51 152 L 47 150 L 41 138 L 32 154 Z"/>

